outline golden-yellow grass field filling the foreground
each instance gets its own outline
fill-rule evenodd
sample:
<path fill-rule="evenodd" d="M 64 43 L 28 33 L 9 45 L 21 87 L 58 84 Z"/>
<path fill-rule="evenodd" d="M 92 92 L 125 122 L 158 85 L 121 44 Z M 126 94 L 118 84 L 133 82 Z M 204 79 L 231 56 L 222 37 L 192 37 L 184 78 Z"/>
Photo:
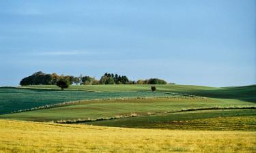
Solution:
<path fill-rule="evenodd" d="M 0 152 L 256 152 L 256 133 L 0 120 Z"/>

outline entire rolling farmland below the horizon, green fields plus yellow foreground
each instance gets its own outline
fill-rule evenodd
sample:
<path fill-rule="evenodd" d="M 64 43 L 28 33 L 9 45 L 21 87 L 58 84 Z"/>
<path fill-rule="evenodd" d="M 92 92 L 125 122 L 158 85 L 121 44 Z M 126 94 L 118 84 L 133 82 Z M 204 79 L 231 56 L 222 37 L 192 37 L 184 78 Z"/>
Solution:
<path fill-rule="evenodd" d="M 156 88 L 0 88 L 0 152 L 256 152 L 256 86 Z"/>

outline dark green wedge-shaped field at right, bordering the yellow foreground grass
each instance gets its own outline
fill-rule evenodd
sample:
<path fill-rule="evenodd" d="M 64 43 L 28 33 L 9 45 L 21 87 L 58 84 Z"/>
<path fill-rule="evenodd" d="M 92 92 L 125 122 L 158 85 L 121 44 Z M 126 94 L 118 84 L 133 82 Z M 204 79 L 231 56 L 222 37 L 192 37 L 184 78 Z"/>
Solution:
<path fill-rule="evenodd" d="M 144 129 L 256 131 L 256 111 L 255 109 L 204 110 L 119 118 L 85 124 Z"/>

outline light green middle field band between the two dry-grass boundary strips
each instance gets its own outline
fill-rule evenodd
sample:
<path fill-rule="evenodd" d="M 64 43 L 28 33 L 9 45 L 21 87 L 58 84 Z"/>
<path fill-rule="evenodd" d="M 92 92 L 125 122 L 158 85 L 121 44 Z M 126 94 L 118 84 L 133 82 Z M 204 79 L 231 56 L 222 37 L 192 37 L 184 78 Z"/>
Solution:
<path fill-rule="evenodd" d="M 39 109 L 29 112 L 1 115 L 0 118 L 15 120 L 51 121 L 72 120 L 87 118 L 109 118 L 120 115 L 155 114 L 174 112 L 188 108 L 205 107 L 248 107 L 256 106 L 255 103 L 241 101 L 222 101 L 221 99 L 201 98 L 170 98 L 170 99 L 116 99 L 109 101 L 85 101 L 83 103 Z M 256 111 L 255 111 L 256 112 Z"/>

